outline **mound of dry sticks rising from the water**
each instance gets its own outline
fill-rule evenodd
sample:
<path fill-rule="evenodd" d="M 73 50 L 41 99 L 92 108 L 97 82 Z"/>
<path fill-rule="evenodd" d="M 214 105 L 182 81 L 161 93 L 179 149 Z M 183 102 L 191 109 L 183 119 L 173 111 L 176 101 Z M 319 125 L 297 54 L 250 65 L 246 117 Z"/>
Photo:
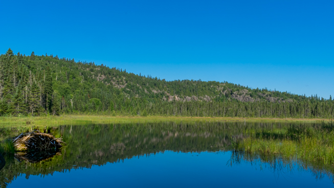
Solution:
<path fill-rule="evenodd" d="M 16 151 L 57 150 L 65 144 L 61 139 L 38 130 L 11 138 Z"/>

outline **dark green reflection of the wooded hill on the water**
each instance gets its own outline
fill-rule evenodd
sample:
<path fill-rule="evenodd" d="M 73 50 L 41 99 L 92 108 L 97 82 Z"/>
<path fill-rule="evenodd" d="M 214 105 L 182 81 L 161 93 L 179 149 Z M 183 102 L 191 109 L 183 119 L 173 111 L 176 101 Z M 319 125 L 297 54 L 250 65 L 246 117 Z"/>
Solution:
<path fill-rule="evenodd" d="M 221 151 L 232 149 L 237 139 L 255 132 L 283 128 L 288 124 L 244 122 L 192 122 L 192 123 L 138 123 L 138 124 L 92 124 L 87 126 L 61 126 L 49 128 L 56 137 L 63 137 L 66 146 L 61 155 L 39 163 L 18 162 L 13 156 L 5 156 L 6 166 L 0 171 L 1 187 L 20 174 L 48 175 L 72 169 L 91 168 L 107 162 L 119 162 L 126 158 L 164 152 Z M 2 138 L 25 128 L 2 129 Z M 44 131 L 43 129 L 40 131 Z"/>

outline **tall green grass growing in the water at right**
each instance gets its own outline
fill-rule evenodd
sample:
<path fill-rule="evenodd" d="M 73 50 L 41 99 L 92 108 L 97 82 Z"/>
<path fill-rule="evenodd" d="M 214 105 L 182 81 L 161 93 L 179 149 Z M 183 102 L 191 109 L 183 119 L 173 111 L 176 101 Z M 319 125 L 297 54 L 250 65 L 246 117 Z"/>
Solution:
<path fill-rule="evenodd" d="M 334 123 L 322 122 L 318 127 L 291 126 L 283 130 L 255 133 L 239 141 L 235 150 L 334 165 Z"/>

